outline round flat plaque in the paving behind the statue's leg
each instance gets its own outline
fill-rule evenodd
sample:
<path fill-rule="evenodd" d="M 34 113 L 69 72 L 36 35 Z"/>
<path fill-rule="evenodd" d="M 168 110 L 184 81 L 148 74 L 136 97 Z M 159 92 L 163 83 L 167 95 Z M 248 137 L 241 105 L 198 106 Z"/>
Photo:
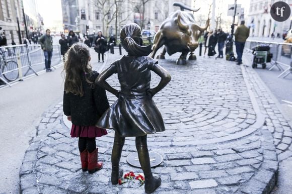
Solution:
<path fill-rule="evenodd" d="M 149 152 L 150 157 L 150 165 L 151 167 L 156 167 L 160 165 L 163 161 L 162 156 L 159 153 L 156 152 Z M 127 156 L 127 162 L 128 164 L 141 168 L 139 158 L 138 158 L 138 152 L 133 152 Z"/>

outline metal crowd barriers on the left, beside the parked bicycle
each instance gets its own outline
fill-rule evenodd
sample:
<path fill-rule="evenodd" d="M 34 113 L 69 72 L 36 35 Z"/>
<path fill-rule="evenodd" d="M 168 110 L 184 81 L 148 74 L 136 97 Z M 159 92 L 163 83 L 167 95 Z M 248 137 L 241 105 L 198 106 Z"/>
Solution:
<path fill-rule="evenodd" d="M 32 73 L 38 75 L 37 72 L 45 69 L 44 65 L 44 53 L 41 49 L 41 45 L 14 45 L 0 47 L 1 58 L 0 58 L 0 80 L 10 85 L 5 75 L 12 74 L 12 72 L 18 71 L 18 79 L 22 79 L 23 76 L 28 76 Z M 60 63 L 61 54 L 59 45 L 53 45 L 53 55 L 51 59 L 51 67 L 56 69 L 55 65 Z M 14 68 L 3 68 L 7 61 L 14 61 L 17 66 Z M 1 67 L 2 66 L 2 67 Z M 21 68 L 19 68 L 21 67 Z M 30 72 L 32 71 L 32 72 Z M 25 72 L 24 74 L 22 72 Z"/>

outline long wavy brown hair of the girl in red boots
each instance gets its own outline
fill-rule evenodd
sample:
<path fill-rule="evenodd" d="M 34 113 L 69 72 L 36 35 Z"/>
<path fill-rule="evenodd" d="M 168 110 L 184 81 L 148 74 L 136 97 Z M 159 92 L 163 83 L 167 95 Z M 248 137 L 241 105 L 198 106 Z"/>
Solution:
<path fill-rule="evenodd" d="M 83 96 L 83 86 L 81 81 L 82 74 L 85 74 L 85 80 L 93 87 L 94 84 L 89 80 L 92 72 L 89 63 L 90 53 L 86 44 L 76 43 L 72 45 L 65 54 L 64 69 L 65 83 L 64 90 L 66 93 L 71 92 L 75 95 Z"/>

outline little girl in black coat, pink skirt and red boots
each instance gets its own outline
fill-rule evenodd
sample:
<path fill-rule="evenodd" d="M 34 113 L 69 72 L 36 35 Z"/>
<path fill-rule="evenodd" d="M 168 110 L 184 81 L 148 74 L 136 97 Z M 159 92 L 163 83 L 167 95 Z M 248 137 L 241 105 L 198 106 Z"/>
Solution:
<path fill-rule="evenodd" d="M 94 84 L 99 75 L 92 71 L 89 48 L 83 43 L 73 44 L 66 53 L 63 111 L 72 122 L 71 137 L 79 137 L 78 147 L 82 170 L 91 174 L 102 168 L 97 161 L 96 137 L 107 131 L 95 126 L 109 108 L 105 90 Z"/>

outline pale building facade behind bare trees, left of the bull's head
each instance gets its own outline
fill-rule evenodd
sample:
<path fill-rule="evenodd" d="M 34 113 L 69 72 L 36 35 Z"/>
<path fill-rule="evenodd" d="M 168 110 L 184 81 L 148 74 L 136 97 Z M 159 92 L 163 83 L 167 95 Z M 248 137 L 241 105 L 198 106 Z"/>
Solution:
<path fill-rule="evenodd" d="M 101 0 L 101 4 L 94 0 L 61 1 L 63 24 L 67 31 L 79 30 L 84 34 L 102 31 L 105 36 L 119 34 L 125 24 L 133 22 L 142 24 L 142 29 L 157 31 L 160 24 L 179 9 L 173 6 L 175 0 L 153 0 L 144 5 L 145 1 L 141 0 L 119 1 L 117 5 L 114 0 Z M 181 3 L 191 7 L 190 0 Z"/>

